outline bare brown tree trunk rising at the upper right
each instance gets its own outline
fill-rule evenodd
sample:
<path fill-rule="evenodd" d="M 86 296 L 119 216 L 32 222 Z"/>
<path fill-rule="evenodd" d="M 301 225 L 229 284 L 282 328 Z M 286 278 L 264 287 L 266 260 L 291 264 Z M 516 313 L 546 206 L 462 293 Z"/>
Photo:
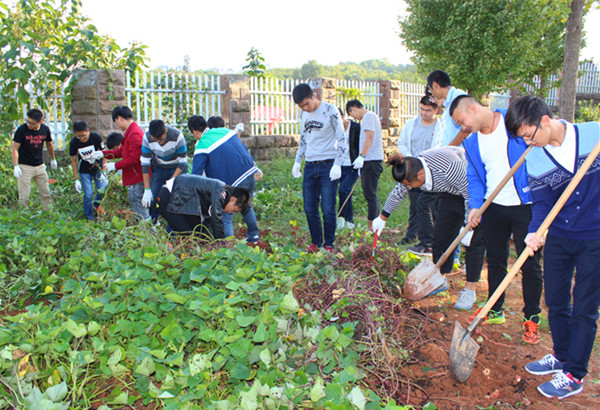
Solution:
<path fill-rule="evenodd" d="M 577 73 L 579 71 L 579 51 L 581 49 L 583 15 L 591 6 L 591 2 L 588 1 L 588 5 L 585 3 L 585 0 L 573 0 L 571 2 L 569 19 L 567 20 L 567 39 L 565 44 L 562 84 L 558 97 L 558 109 L 560 117 L 569 122 L 573 122 L 575 118 Z"/>

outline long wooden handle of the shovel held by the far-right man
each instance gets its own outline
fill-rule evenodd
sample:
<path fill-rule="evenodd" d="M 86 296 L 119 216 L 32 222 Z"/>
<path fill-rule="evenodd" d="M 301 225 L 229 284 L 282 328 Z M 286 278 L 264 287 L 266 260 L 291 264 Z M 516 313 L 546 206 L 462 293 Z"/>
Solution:
<path fill-rule="evenodd" d="M 588 171 L 588 169 L 592 165 L 592 162 L 594 162 L 596 160 L 596 157 L 598 156 L 599 153 L 600 153 L 600 141 L 598 141 L 598 143 L 596 144 L 596 146 L 594 147 L 592 152 L 590 152 L 590 154 L 588 155 L 586 160 L 583 162 L 583 164 L 581 164 L 581 168 L 579 168 L 579 170 L 577 171 L 577 173 L 575 174 L 575 176 L 573 177 L 571 182 L 569 182 L 569 185 L 567 185 L 567 187 L 563 191 L 560 198 L 558 198 L 558 201 L 556 201 L 556 204 L 554 204 L 554 206 L 548 213 L 548 216 L 546 216 L 546 219 L 544 219 L 544 222 L 542 222 L 542 224 L 538 228 L 537 232 L 535 233 L 538 238 L 543 238 L 546 236 L 548 228 L 550 227 L 552 222 L 554 222 L 554 218 L 556 218 L 556 215 L 558 215 L 558 213 L 564 206 L 565 202 L 567 202 L 567 200 L 569 199 L 569 197 L 571 196 L 571 194 L 573 193 L 573 191 L 575 190 L 575 188 L 577 187 L 577 185 L 579 184 L 579 182 L 581 181 L 581 179 L 583 178 L 585 173 Z M 473 320 L 473 322 L 471 322 L 471 326 L 469 326 L 469 329 L 468 329 L 469 333 L 473 332 L 473 330 L 477 327 L 479 322 L 483 318 L 485 318 L 485 316 L 488 314 L 488 312 L 490 311 L 492 306 L 494 306 L 494 303 L 496 303 L 498 298 L 500 298 L 500 295 L 502 295 L 502 293 L 506 290 L 509 283 L 512 281 L 513 277 L 517 274 L 517 272 L 521 269 L 521 267 L 523 266 L 523 264 L 529 257 L 530 250 L 531 250 L 531 248 L 528 246 L 523 250 L 523 252 L 521 252 L 519 259 L 517 259 L 517 261 L 512 266 L 512 268 L 510 268 L 510 271 L 506 274 L 506 277 L 504 278 L 504 280 L 500 283 L 500 285 L 498 285 L 498 288 L 496 289 L 496 291 L 492 294 L 492 296 L 490 296 L 487 303 L 483 306 L 483 308 L 481 308 L 481 311 L 477 314 L 477 316 L 475 316 L 475 319 Z"/>

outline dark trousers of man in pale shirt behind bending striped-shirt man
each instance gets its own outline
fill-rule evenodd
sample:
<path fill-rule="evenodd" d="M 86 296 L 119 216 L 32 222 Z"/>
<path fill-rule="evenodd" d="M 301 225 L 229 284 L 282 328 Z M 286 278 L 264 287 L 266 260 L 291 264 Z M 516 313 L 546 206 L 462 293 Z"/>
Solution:
<path fill-rule="evenodd" d="M 421 245 L 431 247 L 433 243 L 433 210 L 436 194 L 420 189 L 409 189 L 408 197 L 410 199 L 410 214 L 405 238 L 413 240 L 418 237 Z"/>

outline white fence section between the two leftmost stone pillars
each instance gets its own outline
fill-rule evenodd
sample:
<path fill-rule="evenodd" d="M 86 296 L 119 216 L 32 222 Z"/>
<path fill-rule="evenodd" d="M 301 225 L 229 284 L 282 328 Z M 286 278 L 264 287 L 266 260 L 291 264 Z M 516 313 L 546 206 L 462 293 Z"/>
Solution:
<path fill-rule="evenodd" d="M 135 113 L 137 122 L 147 128 L 150 121 L 162 119 L 166 124 L 187 129 L 192 115 L 208 119 L 221 115 L 220 76 L 197 74 L 135 72 L 125 79 L 127 105 Z"/>

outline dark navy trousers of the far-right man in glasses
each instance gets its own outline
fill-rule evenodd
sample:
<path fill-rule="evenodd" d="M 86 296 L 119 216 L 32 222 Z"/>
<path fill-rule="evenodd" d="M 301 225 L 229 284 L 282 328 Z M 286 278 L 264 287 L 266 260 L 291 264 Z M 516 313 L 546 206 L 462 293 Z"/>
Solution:
<path fill-rule="evenodd" d="M 581 379 L 594 347 L 600 306 L 600 240 L 557 238 L 544 246 L 544 286 L 556 358 Z M 571 299 L 573 271 L 575 286 Z"/>

